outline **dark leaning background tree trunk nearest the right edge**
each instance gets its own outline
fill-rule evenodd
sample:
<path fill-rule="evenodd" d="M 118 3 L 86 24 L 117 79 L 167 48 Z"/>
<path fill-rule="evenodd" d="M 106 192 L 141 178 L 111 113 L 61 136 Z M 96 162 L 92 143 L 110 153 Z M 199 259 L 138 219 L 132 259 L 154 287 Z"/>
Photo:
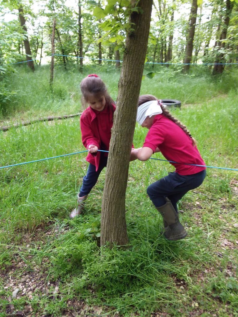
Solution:
<path fill-rule="evenodd" d="M 230 0 L 227 0 L 226 2 L 226 13 L 225 13 L 225 21 L 224 21 L 224 28 L 221 31 L 221 36 L 220 36 L 220 42 L 218 43 L 219 49 L 224 49 L 225 48 L 225 39 L 227 37 L 227 29 L 229 26 L 230 22 L 230 15 L 233 9 L 234 2 L 231 2 Z M 221 74 L 225 68 L 225 63 L 226 61 L 224 60 L 224 53 L 220 53 L 217 55 L 216 60 L 215 60 L 215 65 L 212 71 L 212 74 Z"/>

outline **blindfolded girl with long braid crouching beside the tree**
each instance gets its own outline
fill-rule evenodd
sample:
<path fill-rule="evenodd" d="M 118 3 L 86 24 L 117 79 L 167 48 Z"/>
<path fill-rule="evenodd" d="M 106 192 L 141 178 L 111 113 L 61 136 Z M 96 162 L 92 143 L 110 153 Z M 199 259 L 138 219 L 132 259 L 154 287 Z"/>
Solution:
<path fill-rule="evenodd" d="M 179 221 L 177 202 L 202 184 L 206 167 L 201 165 L 205 163 L 187 128 L 155 96 L 139 97 L 136 120 L 149 132 L 143 147 L 131 152 L 131 160 L 146 161 L 154 152 L 161 152 L 175 166 L 174 172 L 149 185 L 147 193 L 163 217 L 165 238 L 183 239 L 187 232 Z"/>

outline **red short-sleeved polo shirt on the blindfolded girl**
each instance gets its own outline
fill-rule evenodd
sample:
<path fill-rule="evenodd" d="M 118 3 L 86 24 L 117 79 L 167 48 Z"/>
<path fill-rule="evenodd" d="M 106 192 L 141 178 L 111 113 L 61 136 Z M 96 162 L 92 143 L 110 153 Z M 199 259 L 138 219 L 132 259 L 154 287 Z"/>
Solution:
<path fill-rule="evenodd" d="M 163 114 L 157 114 L 149 129 L 143 146 L 154 152 L 159 147 L 163 156 L 169 161 L 178 163 L 205 165 L 198 149 L 193 146 L 191 138 Z M 203 171 L 206 167 L 170 163 L 180 175 L 191 175 Z"/>

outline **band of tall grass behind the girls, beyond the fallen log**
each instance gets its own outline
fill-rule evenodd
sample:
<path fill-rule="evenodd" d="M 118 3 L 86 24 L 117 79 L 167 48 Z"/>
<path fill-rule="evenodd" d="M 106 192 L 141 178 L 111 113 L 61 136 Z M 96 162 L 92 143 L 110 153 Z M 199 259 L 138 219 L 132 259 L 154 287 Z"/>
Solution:
<path fill-rule="evenodd" d="M 149 71 L 149 66 L 147 68 L 144 74 Z M 206 72 L 200 76 L 183 75 L 180 70 L 165 67 L 157 67 L 153 71 L 155 77 L 152 80 L 145 77 L 142 81 L 141 94 L 148 94 L 149 87 L 149 93 L 159 99 L 181 100 L 182 104 L 200 103 L 229 91 L 236 93 L 238 89 L 238 75 L 235 71 L 227 71 L 219 78 L 211 77 Z M 29 120 L 35 116 L 81 111 L 80 82 L 90 73 L 95 73 L 95 67 L 85 66 L 83 72 L 77 71 L 76 66 L 71 66 L 68 71 L 56 67 L 51 91 L 49 66 L 37 68 L 35 73 L 25 66 L 17 68 L 9 78 L 8 89 L 15 91 L 15 95 L 6 106 L 7 119 Z M 97 74 L 105 81 L 111 97 L 116 100 L 120 72 L 104 65 L 97 68 Z"/>

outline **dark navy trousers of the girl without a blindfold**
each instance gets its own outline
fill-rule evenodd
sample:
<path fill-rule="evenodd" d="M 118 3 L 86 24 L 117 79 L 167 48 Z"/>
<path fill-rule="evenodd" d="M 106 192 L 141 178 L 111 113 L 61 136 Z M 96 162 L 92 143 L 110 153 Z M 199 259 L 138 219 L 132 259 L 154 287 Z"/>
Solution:
<path fill-rule="evenodd" d="M 90 193 L 91 189 L 96 184 L 101 171 L 103 170 L 104 167 L 107 166 L 107 161 L 108 161 L 108 157 L 103 156 L 103 154 L 101 153 L 100 163 L 99 163 L 99 167 L 97 171 L 96 171 L 96 166 L 89 163 L 87 174 L 83 177 L 83 184 L 82 184 L 82 187 L 80 188 L 79 197 L 83 197 Z"/>

